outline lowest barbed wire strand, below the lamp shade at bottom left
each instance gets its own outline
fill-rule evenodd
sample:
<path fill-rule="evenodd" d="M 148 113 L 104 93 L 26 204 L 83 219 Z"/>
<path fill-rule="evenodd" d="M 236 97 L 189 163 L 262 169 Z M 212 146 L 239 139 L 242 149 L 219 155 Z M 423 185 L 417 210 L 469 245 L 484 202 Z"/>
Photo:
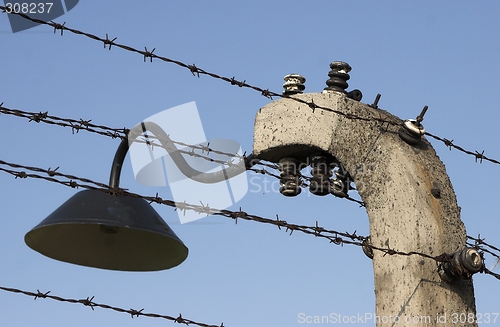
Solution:
<path fill-rule="evenodd" d="M 40 292 L 39 290 L 37 290 L 35 293 L 35 292 L 28 292 L 28 291 L 23 291 L 20 289 L 4 287 L 4 286 L 0 286 L 0 290 L 6 291 L 6 292 L 11 292 L 11 293 L 24 294 L 24 295 L 27 295 L 30 297 L 34 297 L 34 300 L 36 300 L 36 299 L 52 299 L 52 300 L 56 300 L 59 302 L 83 304 L 86 307 L 90 307 L 92 310 L 94 310 L 94 308 L 114 310 L 114 311 L 121 312 L 121 313 L 127 313 L 132 318 L 144 316 L 144 317 L 150 317 L 150 318 L 162 318 L 162 319 L 173 321 L 174 323 L 180 323 L 180 324 L 186 324 L 186 325 L 197 325 L 197 326 L 201 326 L 201 327 L 224 327 L 224 323 L 221 323 L 220 325 L 209 325 L 209 324 L 197 322 L 197 321 L 194 321 L 191 319 L 186 319 L 186 318 L 182 317 L 182 314 L 179 314 L 179 316 L 177 316 L 177 317 L 172 317 L 172 316 L 167 316 L 167 315 L 162 315 L 162 314 L 157 314 L 157 313 L 147 313 L 147 312 L 144 312 L 144 309 L 140 309 L 140 310 L 128 309 L 127 310 L 127 309 L 119 308 L 119 307 L 108 305 L 108 304 L 97 303 L 97 302 L 94 302 L 94 296 L 87 297 L 86 299 L 77 300 L 77 299 L 63 298 L 63 297 L 56 296 L 56 295 L 50 295 L 49 294 L 50 291 L 43 293 L 43 292 Z"/>

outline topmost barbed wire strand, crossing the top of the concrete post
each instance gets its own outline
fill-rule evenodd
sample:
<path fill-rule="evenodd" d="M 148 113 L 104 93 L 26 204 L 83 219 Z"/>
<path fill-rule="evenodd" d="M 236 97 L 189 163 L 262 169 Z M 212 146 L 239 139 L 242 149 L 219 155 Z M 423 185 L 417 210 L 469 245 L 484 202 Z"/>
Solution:
<path fill-rule="evenodd" d="M 0 6 L 0 9 L 2 10 L 3 13 L 7 13 L 7 8 L 6 7 Z M 340 110 L 336 110 L 336 109 L 332 109 L 332 108 L 328 108 L 328 107 L 325 107 L 325 106 L 318 105 L 318 104 L 314 103 L 314 101 L 307 101 L 307 100 L 304 100 L 304 99 L 299 99 L 297 97 L 294 97 L 293 95 L 287 95 L 287 94 L 273 92 L 273 91 L 270 91 L 269 89 L 264 89 L 264 88 L 261 88 L 261 87 L 258 87 L 258 86 L 254 86 L 254 85 L 248 84 L 248 83 L 246 83 L 246 80 L 239 81 L 239 80 L 236 80 L 235 77 L 229 78 L 229 77 L 226 77 L 226 76 L 222 76 L 222 75 L 219 75 L 219 74 L 216 74 L 216 73 L 212 73 L 212 72 L 206 71 L 206 70 L 204 70 L 204 69 L 202 69 L 200 67 L 197 67 L 195 64 L 189 65 L 189 64 L 186 64 L 186 63 L 184 63 L 182 61 L 179 61 L 179 60 L 174 60 L 174 59 L 167 58 L 167 57 L 164 57 L 164 56 L 159 56 L 159 55 L 157 55 L 157 54 L 154 53 L 154 51 L 156 50 L 156 48 L 153 48 L 153 50 L 149 51 L 147 49 L 147 47 L 144 47 L 144 51 L 142 51 L 142 50 L 133 48 L 133 47 L 128 46 L 128 45 L 119 44 L 119 43 L 115 42 L 116 39 L 117 39 L 117 37 L 115 37 L 113 39 L 109 39 L 108 34 L 106 34 L 106 38 L 101 38 L 101 37 L 99 37 L 97 35 L 94 35 L 94 34 L 91 34 L 91 33 L 87 33 L 87 32 L 83 32 L 83 31 L 77 30 L 77 29 L 69 28 L 69 27 L 65 26 L 66 22 L 64 22 L 63 24 L 59 24 L 59 23 L 55 23 L 53 21 L 47 22 L 47 21 L 44 21 L 44 20 L 32 18 L 32 17 L 30 17 L 30 16 L 28 16 L 26 14 L 23 14 L 23 13 L 11 12 L 9 14 L 14 14 L 14 15 L 21 16 L 24 19 L 30 20 L 30 21 L 32 21 L 34 23 L 37 23 L 37 24 L 51 26 L 51 27 L 54 28 L 54 33 L 56 33 L 56 31 L 60 30 L 61 31 L 61 36 L 64 34 L 63 33 L 64 31 L 68 31 L 68 32 L 71 32 L 71 33 L 77 34 L 77 35 L 83 35 L 83 36 L 86 36 L 87 38 L 90 38 L 92 40 L 96 40 L 96 41 L 102 42 L 104 44 L 104 48 L 105 49 L 106 49 L 106 46 L 108 46 L 108 49 L 111 50 L 111 46 L 115 46 L 117 48 L 121 48 L 123 50 L 130 51 L 130 52 L 135 52 L 135 53 L 138 53 L 138 54 L 142 55 L 143 59 L 144 59 L 144 62 L 146 62 L 147 58 L 149 58 L 150 62 L 153 62 L 153 58 L 154 58 L 154 59 L 161 60 L 163 62 L 172 63 L 172 64 L 175 64 L 177 66 L 180 66 L 180 67 L 183 67 L 183 68 L 189 70 L 193 76 L 197 76 L 197 77 L 200 77 L 200 75 L 210 76 L 210 77 L 212 77 L 214 79 L 218 79 L 218 80 L 222 80 L 222 81 L 225 81 L 227 83 L 230 83 L 231 85 L 237 85 L 239 87 L 245 87 L 245 88 L 249 88 L 249 89 L 258 91 L 258 92 L 260 92 L 260 94 L 262 96 L 265 96 L 266 98 L 269 98 L 271 100 L 272 100 L 273 97 L 288 98 L 288 99 L 291 99 L 291 100 L 294 100 L 294 101 L 297 101 L 299 103 L 302 103 L 302 104 L 305 104 L 305 105 L 309 106 L 309 108 L 311 108 L 311 110 L 313 110 L 313 111 L 316 110 L 316 109 L 320 109 L 320 110 L 325 110 L 325 111 L 333 112 L 335 114 L 338 114 L 338 115 L 343 116 L 343 117 L 348 118 L 348 119 L 355 119 L 355 120 L 361 120 L 361 121 L 377 121 L 377 122 L 380 122 L 380 123 L 383 123 L 383 124 L 389 124 L 389 125 L 402 125 L 402 121 L 393 121 L 393 120 L 385 119 L 383 117 L 376 117 L 376 116 L 372 116 L 372 117 L 358 116 L 358 115 L 355 115 L 355 114 L 352 114 L 352 113 L 345 113 L 345 112 L 342 112 Z M 442 138 L 442 137 L 436 136 L 434 134 L 431 134 L 429 132 L 426 132 L 425 135 L 430 136 L 430 137 L 434 138 L 435 140 L 438 140 L 438 141 L 442 142 L 450 150 L 452 148 L 454 148 L 454 149 L 456 149 L 456 150 L 458 150 L 460 152 L 463 152 L 463 153 L 465 153 L 467 155 L 474 156 L 476 162 L 479 160 L 479 162 L 482 163 L 483 160 L 485 160 L 485 161 L 492 162 L 494 164 L 500 164 L 500 161 L 485 156 L 484 155 L 484 150 L 481 151 L 481 152 L 479 152 L 479 151 L 465 150 L 463 147 L 454 144 L 453 143 L 454 140 L 449 140 L 447 138 Z"/>

